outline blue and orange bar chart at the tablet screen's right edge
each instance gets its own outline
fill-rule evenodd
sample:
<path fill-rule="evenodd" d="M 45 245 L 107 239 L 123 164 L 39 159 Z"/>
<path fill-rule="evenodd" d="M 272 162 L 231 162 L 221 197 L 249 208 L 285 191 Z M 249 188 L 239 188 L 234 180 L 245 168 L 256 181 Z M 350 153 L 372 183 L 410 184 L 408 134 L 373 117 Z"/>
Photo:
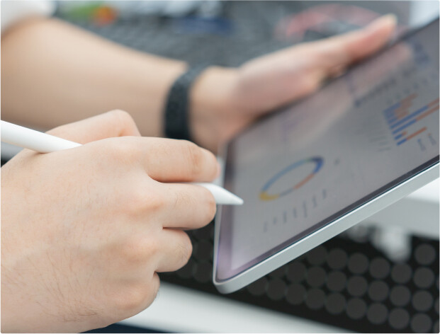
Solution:
<path fill-rule="evenodd" d="M 393 133 L 395 142 L 401 145 L 410 139 L 417 137 L 422 132 L 427 131 L 426 126 L 413 131 L 412 125 L 417 126 L 419 120 L 424 119 L 428 115 L 439 111 L 439 98 L 431 101 L 422 108 L 418 108 L 410 112 L 413 100 L 417 98 L 417 94 L 413 93 L 410 96 L 400 100 L 400 102 L 391 105 L 389 108 L 383 110 L 385 120 L 388 122 L 391 132 Z"/>

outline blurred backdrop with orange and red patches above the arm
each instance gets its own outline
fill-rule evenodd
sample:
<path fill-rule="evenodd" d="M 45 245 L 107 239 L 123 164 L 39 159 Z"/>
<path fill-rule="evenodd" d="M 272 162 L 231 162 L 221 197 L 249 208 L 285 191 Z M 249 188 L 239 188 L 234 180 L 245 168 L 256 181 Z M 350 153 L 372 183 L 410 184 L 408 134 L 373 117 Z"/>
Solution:
<path fill-rule="evenodd" d="M 401 31 L 438 15 L 436 1 L 60 1 L 57 16 L 137 50 L 239 66 L 298 42 L 395 13 Z"/>

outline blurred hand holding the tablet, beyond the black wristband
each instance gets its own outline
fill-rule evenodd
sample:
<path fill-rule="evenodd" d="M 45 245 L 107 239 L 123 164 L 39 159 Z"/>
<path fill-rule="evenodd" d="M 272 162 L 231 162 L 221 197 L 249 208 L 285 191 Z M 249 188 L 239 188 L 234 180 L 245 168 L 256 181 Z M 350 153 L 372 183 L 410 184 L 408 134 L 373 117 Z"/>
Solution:
<path fill-rule="evenodd" d="M 361 30 L 252 59 L 237 70 L 207 69 L 191 96 L 194 141 L 217 151 L 256 117 L 312 93 L 377 52 L 394 28 L 395 17 L 384 16 Z"/>

